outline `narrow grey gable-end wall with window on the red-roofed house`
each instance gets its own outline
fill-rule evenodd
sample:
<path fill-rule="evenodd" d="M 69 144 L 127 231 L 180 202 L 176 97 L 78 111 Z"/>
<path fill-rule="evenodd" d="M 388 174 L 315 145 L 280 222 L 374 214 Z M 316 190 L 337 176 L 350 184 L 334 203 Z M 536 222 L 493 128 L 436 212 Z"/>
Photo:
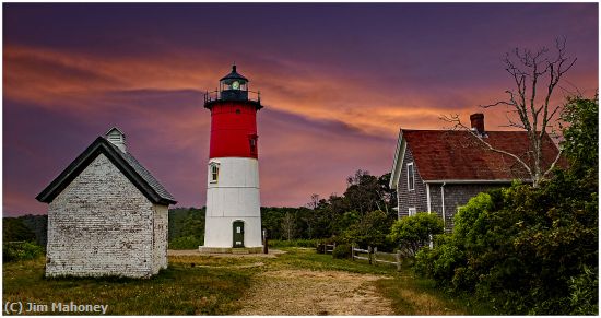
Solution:
<path fill-rule="evenodd" d="M 406 164 L 413 163 L 415 172 L 415 189 L 410 191 L 406 179 Z M 427 211 L 426 186 L 420 176 L 420 167 L 413 162 L 413 155 L 409 146 L 405 150 L 403 166 L 397 184 L 397 196 L 399 200 L 399 219 L 409 215 L 409 208 L 415 208 L 416 212 Z"/>

